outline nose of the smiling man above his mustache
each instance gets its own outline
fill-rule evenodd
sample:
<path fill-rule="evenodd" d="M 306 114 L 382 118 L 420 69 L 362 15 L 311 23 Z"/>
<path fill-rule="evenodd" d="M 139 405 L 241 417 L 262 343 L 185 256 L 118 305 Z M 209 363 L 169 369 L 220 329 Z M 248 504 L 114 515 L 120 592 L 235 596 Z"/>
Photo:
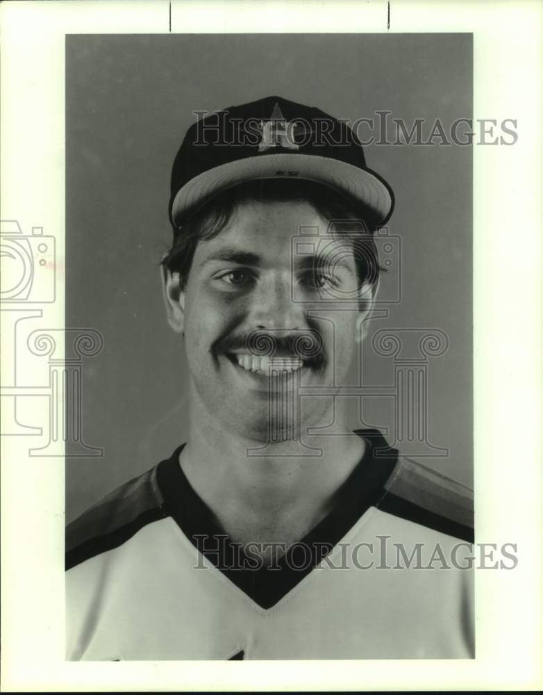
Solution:
<path fill-rule="evenodd" d="M 306 311 L 303 304 L 294 301 L 290 273 L 269 278 L 252 299 L 253 328 L 285 332 L 306 328 Z"/>

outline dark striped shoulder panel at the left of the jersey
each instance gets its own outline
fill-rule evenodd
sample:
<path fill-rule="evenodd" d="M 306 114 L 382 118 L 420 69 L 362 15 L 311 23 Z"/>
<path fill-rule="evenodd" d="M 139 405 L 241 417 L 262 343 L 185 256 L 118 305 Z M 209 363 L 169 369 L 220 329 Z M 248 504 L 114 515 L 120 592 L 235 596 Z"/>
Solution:
<path fill-rule="evenodd" d="M 83 512 L 66 528 L 66 569 L 121 545 L 165 516 L 156 469 L 138 475 Z"/>

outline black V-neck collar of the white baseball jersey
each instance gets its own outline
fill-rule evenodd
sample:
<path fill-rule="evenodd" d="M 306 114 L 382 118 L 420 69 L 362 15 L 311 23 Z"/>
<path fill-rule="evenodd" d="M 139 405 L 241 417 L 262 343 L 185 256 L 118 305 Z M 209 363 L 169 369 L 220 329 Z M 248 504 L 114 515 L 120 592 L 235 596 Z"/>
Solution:
<path fill-rule="evenodd" d="M 356 430 L 365 440 L 365 454 L 338 491 L 331 512 L 286 555 L 271 566 L 262 566 L 254 555 L 245 555 L 217 523 L 214 514 L 188 482 L 179 464 L 184 444 L 158 465 L 157 478 L 165 512 L 200 553 L 262 608 L 270 608 L 321 562 L 383 494 L 398 452 L 377 430 Z M 249 550 L 249 548 L 247 548 Z"/>

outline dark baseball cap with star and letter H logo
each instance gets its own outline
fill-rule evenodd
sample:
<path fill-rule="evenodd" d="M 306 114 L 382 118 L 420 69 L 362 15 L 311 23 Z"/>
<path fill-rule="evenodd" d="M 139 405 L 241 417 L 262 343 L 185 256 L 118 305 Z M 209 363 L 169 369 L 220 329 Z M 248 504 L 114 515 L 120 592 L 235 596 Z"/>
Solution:
<path fill-rule="evenodd" d="M 344 120 L 277 96 L 196 113 L 172 167 L 174 228 L 222 190 L 258 179 L 317 181 L 358 200 L 374 226 L 390 217 L 392 189 Z"/>

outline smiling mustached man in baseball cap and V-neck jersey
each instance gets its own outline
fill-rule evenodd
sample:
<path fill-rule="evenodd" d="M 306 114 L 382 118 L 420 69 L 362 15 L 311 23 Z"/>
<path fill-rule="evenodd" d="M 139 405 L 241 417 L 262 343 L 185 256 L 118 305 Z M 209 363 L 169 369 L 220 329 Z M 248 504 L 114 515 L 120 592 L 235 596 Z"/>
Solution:
<path fill-rule="evenodd" d="M 349 432 L 337 397 L 391 211 L 316 108 L 191 126 L 162 264 L 190 436 L 69 526 L 69 659 L 474 656 L 469 491 Z"/>

